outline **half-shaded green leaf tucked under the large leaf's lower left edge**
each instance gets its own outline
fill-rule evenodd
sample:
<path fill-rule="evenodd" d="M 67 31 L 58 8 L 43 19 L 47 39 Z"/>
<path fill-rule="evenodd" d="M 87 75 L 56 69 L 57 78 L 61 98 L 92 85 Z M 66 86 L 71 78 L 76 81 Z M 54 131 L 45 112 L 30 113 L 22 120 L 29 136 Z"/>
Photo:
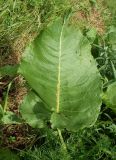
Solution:
<path fill-rule="evenodd" d="M 50 118 L 50 112 L 32 91 L 25 96 L 20 106 L 20 113 L 22 118 L 34 128 L 43 128 L 47 119 Z"/>

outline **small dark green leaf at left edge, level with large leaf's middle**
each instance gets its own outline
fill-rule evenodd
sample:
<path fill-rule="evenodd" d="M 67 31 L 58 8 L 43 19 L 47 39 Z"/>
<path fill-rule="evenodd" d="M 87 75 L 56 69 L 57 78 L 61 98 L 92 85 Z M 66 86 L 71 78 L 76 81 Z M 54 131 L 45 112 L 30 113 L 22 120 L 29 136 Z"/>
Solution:
<path fill-rule="evenodd" d="M 0 67 L 0 76 L 14 76 L 17 74 L 17 70 L 18 70 L 18 65 L 6 65 L 3 67 Z"/>

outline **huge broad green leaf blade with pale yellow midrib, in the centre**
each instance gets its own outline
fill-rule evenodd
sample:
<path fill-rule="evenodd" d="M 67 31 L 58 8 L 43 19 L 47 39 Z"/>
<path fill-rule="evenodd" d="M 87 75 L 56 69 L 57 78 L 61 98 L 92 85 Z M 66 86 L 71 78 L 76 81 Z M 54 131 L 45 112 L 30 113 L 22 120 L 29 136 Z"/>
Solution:
<path fill-rule="evenodd" d="M 96 121 L 101 77 L 79 30 L 61 20 L 49 25 L 27 47 L 19 72 L 52 112 L 52 127 L 78 130 Z"/>

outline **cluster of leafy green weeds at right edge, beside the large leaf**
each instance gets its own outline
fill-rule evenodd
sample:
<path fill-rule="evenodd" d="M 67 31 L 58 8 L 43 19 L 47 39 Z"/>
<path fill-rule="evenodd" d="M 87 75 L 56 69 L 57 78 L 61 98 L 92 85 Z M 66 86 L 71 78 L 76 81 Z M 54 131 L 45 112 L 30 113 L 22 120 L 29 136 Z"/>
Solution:
<path fill-rule="evenodd" d="M 110 83 L 116 79 L 116 28 L 111 25 L 103 37 L 96 37 L 92 52 L 102 77 Z M 107 79 L 107 80 L 106 80 Z"/>

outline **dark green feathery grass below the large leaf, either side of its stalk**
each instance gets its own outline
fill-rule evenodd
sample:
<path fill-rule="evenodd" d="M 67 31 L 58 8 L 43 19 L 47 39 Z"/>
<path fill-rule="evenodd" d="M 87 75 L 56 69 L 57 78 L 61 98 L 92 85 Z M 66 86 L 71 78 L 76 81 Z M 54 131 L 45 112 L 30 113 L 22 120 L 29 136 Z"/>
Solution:
<path fill-rule="evenodd" d="M 116 125 L 110 121 L 98 121 L 94 127 L 79 130 L 79 132 L 65 131 L 63 136 L 71 156 L 70 160 L 115 160 L 115 139 L 112 137 L 116 134 L 115 127 Z M 56 132 L 48 133 L 48 129 L 46 132 L 44 131 L 44 134 L 47 134 L 44 144 L 20 152 L 22 159 L 67 160 L 60 148 Z"/>

